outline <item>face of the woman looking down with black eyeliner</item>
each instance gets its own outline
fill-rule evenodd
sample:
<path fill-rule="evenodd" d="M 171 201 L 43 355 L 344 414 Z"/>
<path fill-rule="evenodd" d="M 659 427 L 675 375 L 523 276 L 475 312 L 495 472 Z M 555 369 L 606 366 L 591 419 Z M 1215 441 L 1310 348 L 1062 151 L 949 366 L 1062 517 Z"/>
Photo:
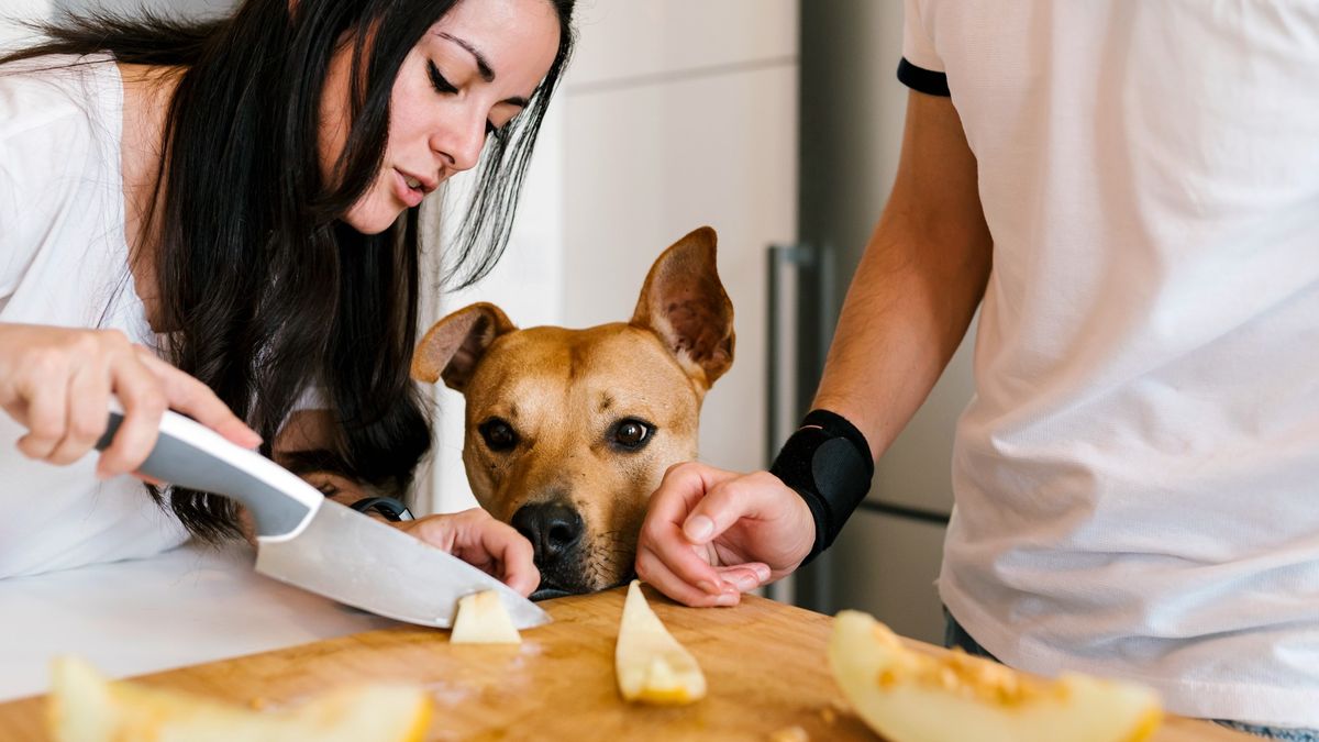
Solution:
<path fill-rule="evenodd" d="M 389 102 L 389 141 L 375 182 L 344 215 L 379 234 L 454 173 L 476 165 L 487 135 L 516 116 L 550 70 L 559 18 L 546 0 L 462 0 L 404 59 Z M 350 127 L 352 45 L 330 61 L 321 103 L 322 176 Z"/>

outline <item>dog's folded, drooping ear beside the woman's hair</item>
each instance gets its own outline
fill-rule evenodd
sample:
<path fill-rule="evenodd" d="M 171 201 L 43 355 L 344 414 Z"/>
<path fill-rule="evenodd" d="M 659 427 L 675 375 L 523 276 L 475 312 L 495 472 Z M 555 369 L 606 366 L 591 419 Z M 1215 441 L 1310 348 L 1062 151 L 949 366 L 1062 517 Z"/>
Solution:
<path fill-rule="evenodd" d="M 413 354 L 412 376 L 431 384 L 443 376 L 448 388 L 463 391 L 495 338 L 516 329 L 493 304 L 464 306 L 426 331 Z"/>

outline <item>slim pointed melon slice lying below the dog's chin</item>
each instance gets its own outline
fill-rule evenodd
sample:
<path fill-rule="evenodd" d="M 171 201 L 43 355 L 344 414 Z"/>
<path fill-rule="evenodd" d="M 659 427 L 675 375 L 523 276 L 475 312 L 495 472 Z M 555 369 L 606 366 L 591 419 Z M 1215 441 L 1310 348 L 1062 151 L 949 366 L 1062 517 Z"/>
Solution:
<path fill-rule="evenodd" d="M 623 603 L 613 667 L 619 691 L 628 701 L 683 705 L 706 697 L 700 665 L 650 610 L 636 580 L 628 585 Z"/>

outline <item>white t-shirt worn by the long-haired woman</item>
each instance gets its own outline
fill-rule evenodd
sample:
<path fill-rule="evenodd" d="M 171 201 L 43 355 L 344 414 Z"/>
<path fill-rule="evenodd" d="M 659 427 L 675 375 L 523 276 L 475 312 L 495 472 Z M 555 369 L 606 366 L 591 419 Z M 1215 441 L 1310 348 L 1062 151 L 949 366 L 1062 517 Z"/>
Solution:
<path fill-rule="evenodd" d="M 128 272 L 123 83 L 108 57 L 0 66 L 0 322 L 116 329 L 153 345 Z M 157 555 L 178 520 L 132 477 L 25 458 L 0 412 L 0 578 Z"/>

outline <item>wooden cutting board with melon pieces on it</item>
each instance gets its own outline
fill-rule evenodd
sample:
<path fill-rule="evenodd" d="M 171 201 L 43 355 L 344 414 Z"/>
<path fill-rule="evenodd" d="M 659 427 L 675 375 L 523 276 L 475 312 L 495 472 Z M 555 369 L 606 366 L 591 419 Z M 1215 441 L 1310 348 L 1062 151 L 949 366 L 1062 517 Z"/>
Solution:
<path fill-rule="evenodd" d="M 142 676 L 239 704 L 277 706 L 363 680 L 423 684 L 437 702 L 427 739 L 869 739 L 828 672 L 830 617 L 748 595 L 735 609 L 689 609 L 646 597 L 700 661 L 710 685 L 685 708 L 624 702 L 613 676 L 623 590 L 547 601 L 549 626 L 520 647 L 452 646 L 448 632 L 389 628 Z M 942 648 L 918 644 L 923 651 Z M 46 739 L 44 697 L 0 705 L 0 739 Z M 801 739 L 798 737 L 797 739 Z M 1171 718 L 1155 742 L 1252 739 Z"/>

